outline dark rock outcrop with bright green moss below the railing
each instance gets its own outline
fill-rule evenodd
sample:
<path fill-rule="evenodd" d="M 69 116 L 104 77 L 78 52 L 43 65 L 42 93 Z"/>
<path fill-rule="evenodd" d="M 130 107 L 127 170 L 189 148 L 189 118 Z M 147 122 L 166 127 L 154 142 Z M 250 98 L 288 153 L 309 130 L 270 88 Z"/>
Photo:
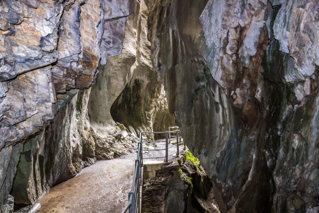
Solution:
<path fill-rule="evenodd" d="M 203 168 L 183 155 L 143 181 L 142 212 L 219 212 L 214 199 Z"/>

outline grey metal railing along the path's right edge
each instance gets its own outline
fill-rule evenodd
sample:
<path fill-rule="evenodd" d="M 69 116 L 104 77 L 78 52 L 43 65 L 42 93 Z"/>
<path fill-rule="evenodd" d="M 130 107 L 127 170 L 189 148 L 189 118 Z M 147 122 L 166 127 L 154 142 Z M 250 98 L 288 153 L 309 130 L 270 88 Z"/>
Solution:
<path fill-rule="evenodd" d="M 176 153 L 176 156 L 179 156 L 179 151 L 183 148 L 186 150 L 186 146 L 184 143 L 184 147 L 179 148 L 179 145 L 182 143 L 182 137 L 180 136 L 180 131 L 178 126 L 174 127 L 168 127 L 170 130 L 171 128 L 177 128 L 177 130 L 174 131 L 166 131 L 166 132 L 140 132 L 139 133 L 139 142 L 137 145 L 137 158 L 135 160 L 135 172 L 134 172 L 134 178 L 132 183 L 131 191 L 129 192 L 129 202 L 125 206 L 125 208 L 122 210 L 121 213 L 127 212 L 129 210 L 129 213 L 139 213 L 141 212 L 141 188 L 143 183 L 143 176 L 142 176 L 142 167 L 143 167 L 143 159 L 152 159 L 152 158 L 165 158 L 165 162 L 168 162 L 168 156 L 171 156 Z M 166 133 L 165 141 L 143 141 L 142 134 L 143 133 L 152 133 L 152 134 L 161 134 Z M 176 136 L 171 136 L 171 133 L 175 133 Z M 176 144 L 168 147 L 168 143 L 171 143 L 172 140 L 176 139 Z M 144 157 L 143 158 L 143 142 L 165 142 L 165 149 L 147 149 L 147 151 L 158 151 L 158 150 L 165 150 L 165 156 L 160 157 Z M 175 147 L 176 151 L 168 154 L 168 149 Z"/>

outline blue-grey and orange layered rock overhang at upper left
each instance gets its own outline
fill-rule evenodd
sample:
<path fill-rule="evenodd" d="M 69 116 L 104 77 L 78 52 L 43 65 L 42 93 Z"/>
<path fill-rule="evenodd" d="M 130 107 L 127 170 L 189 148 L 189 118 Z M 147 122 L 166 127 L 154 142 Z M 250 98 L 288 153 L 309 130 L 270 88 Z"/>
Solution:
<path fill-rule="evenodd" d="M 1 1 L 0 148 L 39 131 L 57 102 L 93 84 L 101 52 L 105 65 L 122 51 L 133 2 Z"/>

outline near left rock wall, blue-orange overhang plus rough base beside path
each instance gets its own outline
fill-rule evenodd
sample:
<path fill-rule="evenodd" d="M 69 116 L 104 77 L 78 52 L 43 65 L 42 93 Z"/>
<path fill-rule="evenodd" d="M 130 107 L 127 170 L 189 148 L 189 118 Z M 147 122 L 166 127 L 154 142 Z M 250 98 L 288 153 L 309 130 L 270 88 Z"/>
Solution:
<path fill-rule="evenodd" d="M 17 201 L 30 203 L 95 157 L 90 146 L 99 138 L 81 123 L 87 113 L 76 118 L 77 93 L 92 86 L 99 64 L 121 53 L 133 7 L 133 0 L 0 2 L 0 212 L 15 174 L 24 180 L 14 188 L 26 186 Z"/>

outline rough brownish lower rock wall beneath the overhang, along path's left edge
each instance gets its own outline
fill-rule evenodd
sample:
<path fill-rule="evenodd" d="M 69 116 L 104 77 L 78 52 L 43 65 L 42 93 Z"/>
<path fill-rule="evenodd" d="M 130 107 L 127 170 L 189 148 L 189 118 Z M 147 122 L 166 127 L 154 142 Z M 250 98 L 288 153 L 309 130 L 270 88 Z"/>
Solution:
<path fill-rule="evenodd" d="M 96 159 L 111 159 L 133 148 L 134 138 L 119 128 L 100 137 L 87 114 L 90 89 L 75 95 L 43 131 L 23 144 L 11 195 L 32 204 L 49 188 L 74 177 Z"/>

